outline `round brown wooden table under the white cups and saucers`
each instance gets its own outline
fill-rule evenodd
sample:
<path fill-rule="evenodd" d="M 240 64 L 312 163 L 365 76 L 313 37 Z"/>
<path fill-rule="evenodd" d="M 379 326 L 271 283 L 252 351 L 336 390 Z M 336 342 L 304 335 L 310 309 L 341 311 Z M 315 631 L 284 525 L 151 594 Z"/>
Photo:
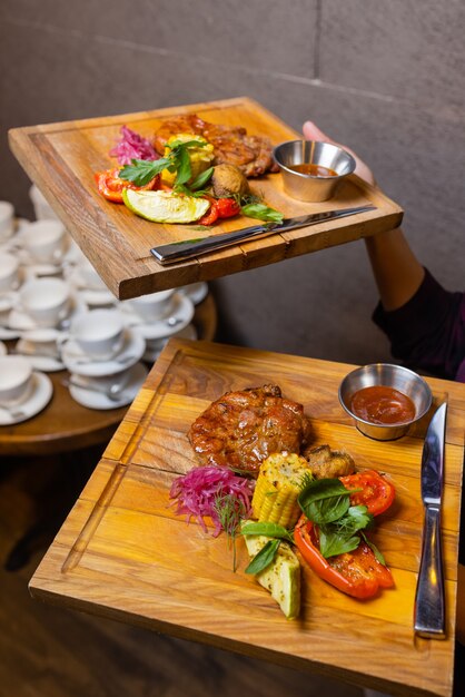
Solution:
<path fill-rule="evenodd" d="M 196 306 L 192 323 L 199 338 L 214 338 L 217 313 L 211 294 Z M 32 419 L 0 426 L 0 455 L 60 454 L 108 443 L 128 410 L 128 406 L 103 411 L 81 406 L 62 384 L 68 371 L 48 375 L 53 383 L 51 401 Z"/>

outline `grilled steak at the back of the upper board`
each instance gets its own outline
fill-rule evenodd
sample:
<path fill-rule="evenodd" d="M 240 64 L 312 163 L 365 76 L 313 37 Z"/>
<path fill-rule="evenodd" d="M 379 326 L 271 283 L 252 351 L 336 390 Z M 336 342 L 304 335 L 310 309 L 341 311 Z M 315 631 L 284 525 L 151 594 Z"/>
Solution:
<path fill-rule="evenodd" d="M 162 155 L 168 138 L 177 134 L 204 136 L 214 146 L 215 165 L 235 165 L 246 177 L 277 171 L 271 143 L 263 136 L 248 136 L 241 126 L 224 126 L 204 121 L 197 114 L 175 116 L 155 132 L 154 147 Z"/>

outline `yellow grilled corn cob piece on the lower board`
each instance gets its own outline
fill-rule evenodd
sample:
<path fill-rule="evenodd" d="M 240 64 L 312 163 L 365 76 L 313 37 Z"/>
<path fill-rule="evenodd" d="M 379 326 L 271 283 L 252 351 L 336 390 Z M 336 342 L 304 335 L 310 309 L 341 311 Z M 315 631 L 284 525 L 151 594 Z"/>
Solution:
<path fill-rule="evenodd" d="M 300 514 L 297 497 L 308 463 L 297 453 L 275 453 L 260 467 L 251 507 L 260 522 L 291 528 Z"/>

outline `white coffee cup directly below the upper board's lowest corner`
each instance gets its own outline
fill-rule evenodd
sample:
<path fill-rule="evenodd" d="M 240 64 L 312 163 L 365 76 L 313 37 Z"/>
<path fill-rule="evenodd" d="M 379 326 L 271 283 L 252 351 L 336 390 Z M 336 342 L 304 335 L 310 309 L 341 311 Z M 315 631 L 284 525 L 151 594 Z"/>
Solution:
<path fill-rule="evenodd" d="M 70 336 L 88 356 L 111 359 L 123 344 L 122 316 L 117 310 L 90 310 L 71 323 Z"/>

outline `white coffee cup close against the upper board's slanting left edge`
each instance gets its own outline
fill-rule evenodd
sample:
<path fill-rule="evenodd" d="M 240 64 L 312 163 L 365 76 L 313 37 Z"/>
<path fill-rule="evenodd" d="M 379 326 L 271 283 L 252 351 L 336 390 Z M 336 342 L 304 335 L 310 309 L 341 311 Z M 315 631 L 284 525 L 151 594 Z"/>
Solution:
<path fill-rule="evenodd" d="M 34 220 L 21 233 L 21 245 L 34 262 L 60 262 L 67 251 L 67 230 L 60 220 Z"/>

